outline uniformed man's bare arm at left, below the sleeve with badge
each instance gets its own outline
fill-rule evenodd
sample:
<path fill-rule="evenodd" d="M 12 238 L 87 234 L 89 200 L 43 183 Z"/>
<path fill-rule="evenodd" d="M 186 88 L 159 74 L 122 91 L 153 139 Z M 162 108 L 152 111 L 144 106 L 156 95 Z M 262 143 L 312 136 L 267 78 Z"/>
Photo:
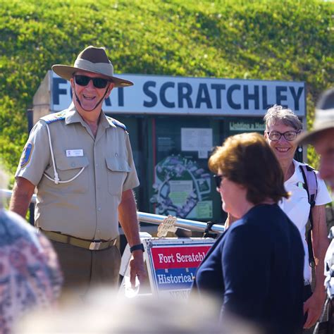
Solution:
<path fill-rule="evenodd" d="M 16 214 L 25 218 L 34 191 L 35 185 L 33 185 L 26 178 L 16 178 L 16 183 L 13 187 L 13 194 L 11 196 L 11 203 L 9 204 L 9 210 L 16 212 Z"/>

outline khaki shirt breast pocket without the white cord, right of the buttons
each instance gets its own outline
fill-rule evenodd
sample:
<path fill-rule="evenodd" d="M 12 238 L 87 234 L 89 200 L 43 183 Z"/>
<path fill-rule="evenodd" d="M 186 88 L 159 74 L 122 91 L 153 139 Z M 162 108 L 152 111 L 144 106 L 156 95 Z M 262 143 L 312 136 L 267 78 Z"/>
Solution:
<path fill-rule="evenodd" d="M 121 195 L 123 192 L 123 183 L 126 176 L 131 171 L 128 161 L 125 159 L 106 158 L 108 174 L 108 191 L 111 195 Z"/>

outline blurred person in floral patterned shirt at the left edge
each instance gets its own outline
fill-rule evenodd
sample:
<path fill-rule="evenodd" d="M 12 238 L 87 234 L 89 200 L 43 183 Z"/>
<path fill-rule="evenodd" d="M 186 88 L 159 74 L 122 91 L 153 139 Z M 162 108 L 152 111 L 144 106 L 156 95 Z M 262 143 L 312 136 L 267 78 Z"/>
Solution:
<path fill-rule="evenodd" d="M 5 179 L 0 171 L 0 188 L 6 186 Z M 49 240 L 18 214 L 6 211 L 0 193 L 0 333 L 11 333 L 32 309 L 55 304 L 61 283 Z"/>

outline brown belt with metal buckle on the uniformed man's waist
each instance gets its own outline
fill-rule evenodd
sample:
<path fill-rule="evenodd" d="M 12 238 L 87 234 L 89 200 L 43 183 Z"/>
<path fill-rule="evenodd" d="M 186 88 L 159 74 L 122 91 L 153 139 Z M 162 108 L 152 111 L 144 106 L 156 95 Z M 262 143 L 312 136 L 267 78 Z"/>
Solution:
<path fill-rule="evenodd" d="M 69 244 L 76 247 L 86 248 L 90 250 L 101 250 L 107 249 L 109 247 L 115 246 L 117 242 L 117 237 L 113 240 L 103 241 L 103 240 L 85 240 L 80 239 L 80 237 L 73 237 L 72 235 L 61 234 L 57 232 L 51 232 L 46 230 L 41 230 L 41 232 L 46 235 L 50 240 L 56 242 L 62 242 L 63 244 Z"/>

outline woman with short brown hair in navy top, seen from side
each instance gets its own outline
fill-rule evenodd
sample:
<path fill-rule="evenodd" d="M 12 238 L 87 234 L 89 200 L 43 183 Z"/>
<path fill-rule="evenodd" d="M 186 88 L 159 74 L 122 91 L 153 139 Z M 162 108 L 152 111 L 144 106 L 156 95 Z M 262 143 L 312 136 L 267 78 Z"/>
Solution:
<path fill-rule="evenodd" d="M 240 316 L 264 333 L 300 333 L 304 249 L 278 206 L 284 189 L 276 156 L 257 133 L 228 137 L 209 159 L 223 210 L 237 221 L 211 247 L 192 287 L 221 302 L 224 319 Z"/>

